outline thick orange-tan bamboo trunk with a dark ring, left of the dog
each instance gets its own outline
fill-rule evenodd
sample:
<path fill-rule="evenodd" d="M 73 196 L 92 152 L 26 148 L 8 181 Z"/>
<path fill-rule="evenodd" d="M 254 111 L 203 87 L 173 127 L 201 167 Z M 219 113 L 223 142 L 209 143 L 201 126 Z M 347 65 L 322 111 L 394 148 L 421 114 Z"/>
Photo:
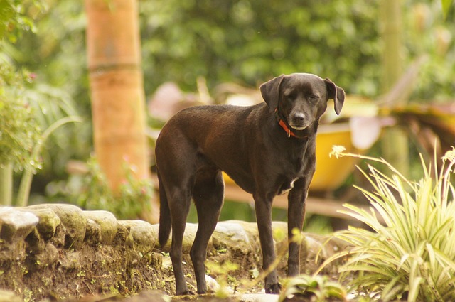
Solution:
<path fill-rule="evenodd" d="M 85 0 L 95 153 L 114 191 L 125 161 L 137 178 L 150 177 L 137 6 Z"/>

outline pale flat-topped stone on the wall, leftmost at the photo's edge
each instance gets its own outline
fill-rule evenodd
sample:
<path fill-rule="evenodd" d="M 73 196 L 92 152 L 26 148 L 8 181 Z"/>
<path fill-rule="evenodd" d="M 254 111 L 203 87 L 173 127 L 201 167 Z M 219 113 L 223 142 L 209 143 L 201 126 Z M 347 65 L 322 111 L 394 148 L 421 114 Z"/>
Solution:
<path fill-rule="evenodd" d="M 0 238 L 6 242 L 23 240 L 38 224 L 38 217 L 12 207 L 0 207 Z"/>

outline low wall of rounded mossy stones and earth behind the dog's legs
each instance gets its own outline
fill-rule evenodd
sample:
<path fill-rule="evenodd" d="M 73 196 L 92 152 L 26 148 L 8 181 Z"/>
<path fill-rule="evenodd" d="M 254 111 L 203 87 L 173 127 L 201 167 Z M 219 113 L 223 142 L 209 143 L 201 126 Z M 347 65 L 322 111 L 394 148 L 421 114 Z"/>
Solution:
<path fill-rule="evenodd" d="M 286 224 L 274 222 L 274 228 L 285 230 Z M 190 287 L 195 284 L 188 252 L 196 229 L 197 225 L 187 224 L 183 244 Z M 0 290 L 13 291 L 23 301 L 107 293 L 129 296 L 149 289 L 172 294 L 171 261 L 161 252 L 157 233 L 158 225 L 117 220 L 110 212 L 83 211 L 74 205 L 0 207 Z M 301 256 L 304 271 L 314 269 L 321 242 L 306 236 Z M 336 245 L 328 244 L 323 257 L 334 249 Z M 249 278 L 250 271 L 261 267 L 256 224 L 220 222 L 208 259 L 235 262 L 240 269 L 230 274 L 238 280 Z M 279 265 L 281 276 L 285 260 Z M 245 291 L 254 290 L 259 289 Z"/>

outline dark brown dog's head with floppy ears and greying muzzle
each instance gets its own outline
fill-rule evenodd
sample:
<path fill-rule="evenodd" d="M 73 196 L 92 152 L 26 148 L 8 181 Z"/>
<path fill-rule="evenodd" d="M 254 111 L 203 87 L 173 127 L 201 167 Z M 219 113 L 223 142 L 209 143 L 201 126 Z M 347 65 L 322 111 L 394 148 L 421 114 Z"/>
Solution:
<path fill-rule="evenodd" d="M 328 99 L 335 102 L 335 112 L 340 114 L 345 93 L 329 79 L 308 73 L 280 75 L 260 87 L 262 97 L 270 112 L 278 111 L 287 124 L 304 130 L 326 111 Z"/>

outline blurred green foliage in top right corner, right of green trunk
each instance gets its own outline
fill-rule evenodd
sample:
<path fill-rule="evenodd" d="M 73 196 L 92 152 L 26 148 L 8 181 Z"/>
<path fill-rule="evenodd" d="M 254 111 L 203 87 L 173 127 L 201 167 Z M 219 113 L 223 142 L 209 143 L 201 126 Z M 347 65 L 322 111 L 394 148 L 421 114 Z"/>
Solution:
<path fill-rule="evenodd" d="M 411 99 L 451 101 L 455 90 L 451 79 L 455 77 L 455 70 L 449 66 L 455 65 L 455 10 L 447 11 L 444 21 L 439 1 L 407 0 L 403 5 L 404 58 L 410 63 L 422 55 L 427 56 Z"/>

